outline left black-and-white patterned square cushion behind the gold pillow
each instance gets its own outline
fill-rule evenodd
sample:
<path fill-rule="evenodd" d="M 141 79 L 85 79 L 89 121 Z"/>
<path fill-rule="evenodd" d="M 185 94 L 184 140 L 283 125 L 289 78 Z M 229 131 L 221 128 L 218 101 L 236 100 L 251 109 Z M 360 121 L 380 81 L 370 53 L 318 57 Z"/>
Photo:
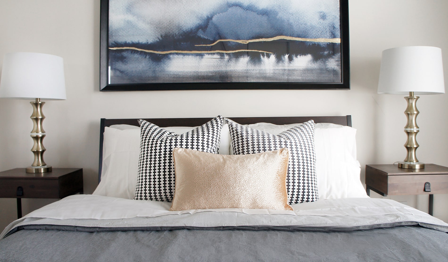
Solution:
<path fill-rule="evenodd" d="M 142 131 L 134 199 L 172 202 L 175 183 L 172 149 L 218 153 L 224 119 L 217 116 L 182 135 L 142 119 L 138 122 Z"/>

